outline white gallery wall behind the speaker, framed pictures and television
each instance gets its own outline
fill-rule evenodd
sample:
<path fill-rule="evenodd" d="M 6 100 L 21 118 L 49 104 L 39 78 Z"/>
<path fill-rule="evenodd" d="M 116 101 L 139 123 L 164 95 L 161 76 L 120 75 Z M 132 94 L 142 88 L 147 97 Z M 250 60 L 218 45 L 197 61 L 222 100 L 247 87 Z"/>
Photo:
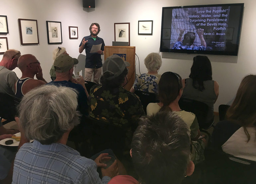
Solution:
<path fill-rule="evenodd" d="M 238 56 L 208 55 L 212 61 L 213 80 L 219 83 L 219 97 L 214 110 L 218 111 L 219 104 L 225 104 L 235 95 L 241 79 L 249 74 L 256 73 L 254 48 L 256 43 L 256 1 L 254 0 L 215 0 L 214 4 L 244 3 L 244 15 L 241 30 Z M 130 23 L 130 45 L 136 46 L 136 54 L 140 59 L 140 72 L 146 72 L 144 58 L 150 52 L 158 52 L 160 47 L 162 7 L 213 4 L 210 0 L 96 0 L 95 9 L 84 11 L 82 0 L 2 0 L 1 15 L 7 15 L 9 34 L 9 48 L 15 48 L 22 54 L 34 54 L 43 68 L 44 78 L 50 81 L 48 71 L 52 64 L 52 50 L 59 45 L 48 45 L 45 21 L 60 21 L 62 24 L 61 46 L 66 47 L 72 57 L 78 57 L 78 45 L 83 36 L 89 35 L 88 27 L 92 22 L 100 24 L 102 37 L 106 45 L 114 41 L 114 23 Z M 39 41 L 36 46 L 20 45 L 18 31 L 18 18 L 37 19 L 39 26 Z M 153 20 L 153 35 L 138 35 L 138 20 Z M 70 40 L 68 26 L 78 27 L 78 40 Z M 0 35 L 1 37 L 5 35 Z M 192 65 L 193 54 L 167 54 L 163 58 L 160 74 L 173 71 L 188 77 Z M 0 56 L 0 59 L 2 56 Z M 19 69 L 15 69 L 18 77 Z M 138 74 L 138 60 L 136 61 L 136 74 Z"/>

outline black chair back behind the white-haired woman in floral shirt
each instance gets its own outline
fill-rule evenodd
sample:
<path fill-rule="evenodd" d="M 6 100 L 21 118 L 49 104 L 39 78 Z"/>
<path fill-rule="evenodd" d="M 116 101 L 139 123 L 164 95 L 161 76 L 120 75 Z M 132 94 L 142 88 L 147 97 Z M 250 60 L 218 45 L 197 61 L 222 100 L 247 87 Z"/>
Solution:
<path fill-rule="evenodd" d="M 134 92 L 136 95 L 138 95 L 141 104 L 143 105 L 144 112 L 147 114 L 147 105 L 149 103 L 157 103 L 159 102 L 157 98 L 157 94 L 152 93 L 152 92 L 143 92 L 136 90 Z"/>

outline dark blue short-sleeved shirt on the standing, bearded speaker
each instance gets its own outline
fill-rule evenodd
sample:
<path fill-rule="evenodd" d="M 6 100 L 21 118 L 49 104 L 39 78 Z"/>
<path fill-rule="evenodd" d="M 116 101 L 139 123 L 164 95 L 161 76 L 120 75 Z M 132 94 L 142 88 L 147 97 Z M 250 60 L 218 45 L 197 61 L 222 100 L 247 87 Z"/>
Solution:
<path fill-rule="evenodd" d="M 100 68 L 102 67 L 102 60 L 101 60 L 101 54 L 95 52 L 95 53 L 90 53 L 92 46 L 93 45 L 98 45 L 101 44 L 101 50 L 104 50 L 104 40 L 100 37 L 96 37 L 96 40 L 94 41 L 94 39 L 92 38 L 91 35 L 89 36 L 85 36 L 83 37 L 83 39 L 86 41 L 88 40 L 88 42 L 86 44 L 84 44 L 84 49 L 85 49 L 85 53 L 86 53 L 86 59 L 85 59 L 85 68 Z M 82 39 L 82 41 L 83 41 Z M 79 45 L 79 47 L 82 45 L 82 41 Z"/>

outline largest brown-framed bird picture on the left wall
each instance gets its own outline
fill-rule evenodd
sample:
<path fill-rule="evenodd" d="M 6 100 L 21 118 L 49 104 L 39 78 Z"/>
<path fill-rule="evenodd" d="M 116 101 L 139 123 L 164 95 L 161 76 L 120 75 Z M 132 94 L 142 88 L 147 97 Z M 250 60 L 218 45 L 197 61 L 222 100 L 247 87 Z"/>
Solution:
<path fill-rule="evenodd" d="M 37 20 L 18 19 L 22 45 L 39 44 Z"/>

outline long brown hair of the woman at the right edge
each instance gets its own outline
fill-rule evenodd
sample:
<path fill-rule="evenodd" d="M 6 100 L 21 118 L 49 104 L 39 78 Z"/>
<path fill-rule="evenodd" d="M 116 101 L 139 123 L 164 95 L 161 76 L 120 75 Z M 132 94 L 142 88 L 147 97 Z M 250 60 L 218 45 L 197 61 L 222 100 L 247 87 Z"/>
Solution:
<path fill-rule="evenodd" d="M 235 99 L 228 108 L 226 116 L 228 119 L 237 120 L 238 124 L 244 127 L 244 132 L 250 140 L 250 135 L 246 129 L 248 126 L 256 128 L 256 75 L 248 75 L 243 78 Z"/>

